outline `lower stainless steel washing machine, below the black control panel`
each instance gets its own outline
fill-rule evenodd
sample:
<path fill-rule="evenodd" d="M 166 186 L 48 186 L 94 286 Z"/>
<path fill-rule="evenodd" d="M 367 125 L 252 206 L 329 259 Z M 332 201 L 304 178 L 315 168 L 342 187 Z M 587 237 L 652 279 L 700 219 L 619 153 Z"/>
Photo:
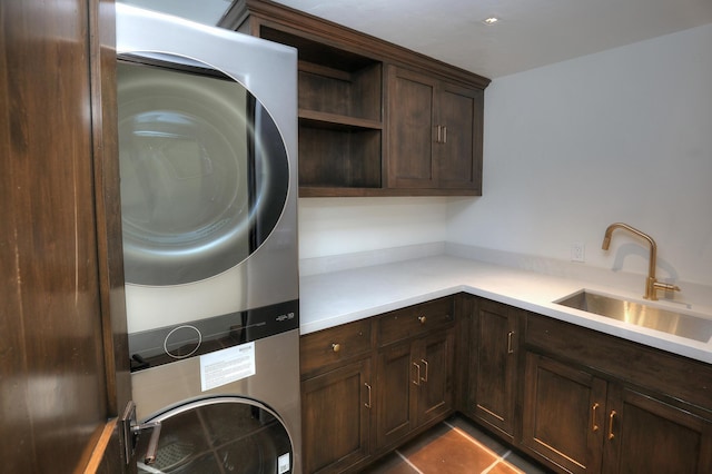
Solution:
<path fill-rule="evenodd" d="M 265 323 L 259 318 L 248 325 Z M 155 462 L 145 473 L 300 473 L 296 330 L 199 357 L 137 371 L 138 418 L 161 422 Z M 231 382 L 219 385 L 221 382 Z"/>

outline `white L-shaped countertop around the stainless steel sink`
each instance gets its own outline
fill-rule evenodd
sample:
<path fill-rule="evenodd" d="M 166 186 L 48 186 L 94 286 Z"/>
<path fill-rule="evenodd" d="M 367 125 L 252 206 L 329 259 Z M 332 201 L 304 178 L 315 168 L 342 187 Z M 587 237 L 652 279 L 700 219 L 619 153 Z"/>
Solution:
<path fill-rule="evenodd" d="M 643 280 L 641 276 L 641 292 Z M 581 279 L 442 255 L 303 276 L 299 282 L 301 334 L 465 292 L 712 364 L 711 340 L 701 343 L 552 303 L 582 288 L 642 300 L 636 293 Z M 675 302 L 654 304 L 712 319 L 708 307 L 691 312 Z"/>

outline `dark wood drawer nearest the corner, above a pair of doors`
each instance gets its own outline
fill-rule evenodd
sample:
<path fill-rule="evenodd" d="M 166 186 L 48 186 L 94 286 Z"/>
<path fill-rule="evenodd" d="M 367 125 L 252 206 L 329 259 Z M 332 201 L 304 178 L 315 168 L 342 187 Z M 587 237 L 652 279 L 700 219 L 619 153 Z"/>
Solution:
<path fill-rule="evenodd" d="M 386 313 L 377 320 L 378 345 L 419 336 L 446 327 L 454 320 L 452 297 Z"/>

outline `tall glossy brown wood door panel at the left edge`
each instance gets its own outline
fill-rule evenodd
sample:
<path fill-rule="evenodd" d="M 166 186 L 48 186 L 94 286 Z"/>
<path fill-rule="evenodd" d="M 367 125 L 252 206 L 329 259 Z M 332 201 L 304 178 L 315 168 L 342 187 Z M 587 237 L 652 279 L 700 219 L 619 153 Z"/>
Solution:
<path fill-rule="evenodd" d="M 98 230 L 105 218 L 99 224 L 95 206 L 98 194 L 111 201 L 108 209 L 118 199 L 118 175 L 96 168 L 116 159 L 105 154 L 116 142 L 115 128 L 101 131 L 102 119 L 113 117 L 101 107 L 105 93 L 110 97 L 116 88 L 112 11 L 113 2 L 97 0 L 0 3 L 0 436 L 6 441 L 0 458 L 6 472 L 81 468 L 118 403 L 108 396 L 117 384 L 108 387 L 105 369 L 105 342 L 112 335 L 102 315 L 110 314 L 112 299 L 109 292 L 102 298 L 100 282 L 109 247 L 115 256 L 121 247 L 116 251 L 117 237 L 109 237 L 108 227 Z M 108 106 L 115 107 L 110 99 Z M 115 187 L 103 189 L 108 181 Z M 110 213 L 115 228 L 120 226 L 120 213 Z M 120 273 L 112 288 L 122 287 L 119 279 Z M 122 318 L 117 310 L 117 320 Z M 111 359 L 127 356 L 108 353 Z"/>

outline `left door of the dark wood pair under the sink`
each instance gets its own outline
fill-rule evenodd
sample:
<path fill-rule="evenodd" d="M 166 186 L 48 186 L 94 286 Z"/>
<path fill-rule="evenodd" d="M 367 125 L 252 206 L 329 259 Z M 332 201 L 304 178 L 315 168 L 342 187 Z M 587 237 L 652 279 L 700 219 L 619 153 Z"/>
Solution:
<path fill-rule="evenodd" d="M 567 472 L 600 472 L 605 397 L 605 381 L 527 353 L 523 445 Z"/>

